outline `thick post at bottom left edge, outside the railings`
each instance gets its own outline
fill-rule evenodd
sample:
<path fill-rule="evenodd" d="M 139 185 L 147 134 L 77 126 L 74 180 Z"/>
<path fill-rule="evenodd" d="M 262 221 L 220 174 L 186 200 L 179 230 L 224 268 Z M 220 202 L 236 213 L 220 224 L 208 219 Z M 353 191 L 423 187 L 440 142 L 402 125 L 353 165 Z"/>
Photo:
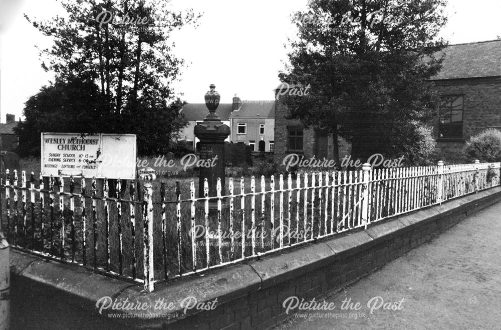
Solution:
<path fill-rule="evenodd" d="M 0 330 L 9 328 L 10 319 L 9 243 L 0 231 Z"/>

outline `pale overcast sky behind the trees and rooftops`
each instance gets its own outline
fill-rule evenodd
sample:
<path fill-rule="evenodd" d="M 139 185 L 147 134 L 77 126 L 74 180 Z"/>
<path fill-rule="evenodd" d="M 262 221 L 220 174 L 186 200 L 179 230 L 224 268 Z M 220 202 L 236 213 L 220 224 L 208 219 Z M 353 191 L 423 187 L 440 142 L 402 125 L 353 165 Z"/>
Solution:
<path fill-rule="evenodd" d="M 188 102 L 201 103 L 210 83 L 221 102 L 234 93 L 246 100 L 273 99 L 278 72 L 286 59 L 284 43 L 294 35 L 290 14 L 308 0 L 172 0 L 176 7 L 203 12 L 199 26 L 175 33 L 175 53 L 189 64 L 176 91 Z M 22 115 L 24 102 L 53 75 L 40 66 L 35 45 L 51 39 L 28 23 L 23 14 L 49 19 L 61 13 L 56 0 L 0 0 L 0 121 L 6 113 Z M 450 43 L 495 39 L 501 35 L 501 0 L 449 0 L 448 25 L 442 36 Z"/>

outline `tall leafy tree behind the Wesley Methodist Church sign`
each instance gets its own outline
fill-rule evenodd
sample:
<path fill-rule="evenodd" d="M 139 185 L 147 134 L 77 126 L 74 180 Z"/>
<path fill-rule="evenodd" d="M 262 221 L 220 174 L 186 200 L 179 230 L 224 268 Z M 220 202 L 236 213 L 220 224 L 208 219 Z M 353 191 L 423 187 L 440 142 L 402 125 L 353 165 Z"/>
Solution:
<path fill-rule="evenodd" d="M 85 81 L 87 88 L 95 85 L 92 93 L 79 89 L 82 98 L 88 98 L 89 106 L 79 112 L 85 118 L 94 112 L 101 118 L 97 123 L 86 119 L 87 126 L 70 125 L 70 131 L 138 134 L 140 152 L 159 152 L 165 149 L 172 133 L 185 122 L 178 115 L 182 102 L 174 97 L 171 83 L 178 77 L 184 61 L 172 54 L 174 46 L 170 33 L 187 24 L 196 23 L 200 15 L 192 9 L 174 12 L 169 0 L 62 0 L 68 12 L 65 17 L 56 16 L 49 21 L 26 18 L 42 33 L 54 37 L 54 45 L 41 51 L 42 67 L 56 73 L 56 83 L 44 87 L 32 97 L 25 108 L 27 120 L 33 123 L 20 126 L 20 135 L 35 138 L 33 131 L 23 127 L 47 126 L 37 121 L 36 111 L 53 121 L 62 121 L 61 111 L 71 104 L 65 103 L 61 111 L 55 111 L 48 103 L 37 103 L 41 93 L 61 93 L 71 99 L 71 88 L 76 81 Z M 63 90 L 66 87 L 68 90 Z M 91 99 L 91 98 L 96 98 Z M 36 109 L 36 110 L 35 110 Z M 87 110 L 90 112 L 87 113 Z M 35 112 L 34 112 L 35 111 Z M 33 112 L 33 113 L 30 113 Z M 68 114 L 69 115 L 69 114 Z M 66 118 L 68 118 L 66 116 Z M 75 118 L 70 116 L 69 119 Z M 72 120 L 75 121 L 75 120 Z M 57 131 L 66 130 L 65 124 Z M 165 134 L 167 134 L 165 136 Z M 38 135 L 38 140 L 40 135 Z M 20 143 L 22 143 L 20 141 Z M 27 141 L 22 148 L 30 149 L 36 141 Z"/>

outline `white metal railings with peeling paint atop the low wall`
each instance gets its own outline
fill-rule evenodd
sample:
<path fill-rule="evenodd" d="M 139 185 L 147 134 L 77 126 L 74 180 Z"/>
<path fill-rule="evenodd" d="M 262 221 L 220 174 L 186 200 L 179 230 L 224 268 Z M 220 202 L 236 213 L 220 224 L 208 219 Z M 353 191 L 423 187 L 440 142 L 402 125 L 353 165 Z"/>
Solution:
<path fill-rule="evenodd" d="M 499 168 L 499 162 L 385 169 L 364 164 L 356 171 L 229 178 L 224 189 L 219 179 L 213 197 L 205 180 L 202 198 L 195 197 L 194 180 L 146 182 L 140 189 L 134 181 L 117 180 L 110 196 L 107 179 L 60 177 L 56 191 L 53 177 L 48 189 L 40 177 L 37 188 L 32 173 L 27 187 L 25 171 L 21 185 L 17 171 L 12 184 L 7 171 L 2 221 L 15 248 L 140 281 L 152 291 L 156 281 L 498 185 Z"/>

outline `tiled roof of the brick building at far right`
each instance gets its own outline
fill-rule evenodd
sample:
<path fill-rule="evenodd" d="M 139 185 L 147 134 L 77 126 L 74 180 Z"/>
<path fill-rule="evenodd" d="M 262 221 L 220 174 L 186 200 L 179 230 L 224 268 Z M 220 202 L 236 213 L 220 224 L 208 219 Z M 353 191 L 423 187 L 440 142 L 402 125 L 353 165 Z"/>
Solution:
<path fill-rule="evenodd" d="M 451 44 L 440 72 L 431 80 L 501 76 L 501 40 Z"/>

